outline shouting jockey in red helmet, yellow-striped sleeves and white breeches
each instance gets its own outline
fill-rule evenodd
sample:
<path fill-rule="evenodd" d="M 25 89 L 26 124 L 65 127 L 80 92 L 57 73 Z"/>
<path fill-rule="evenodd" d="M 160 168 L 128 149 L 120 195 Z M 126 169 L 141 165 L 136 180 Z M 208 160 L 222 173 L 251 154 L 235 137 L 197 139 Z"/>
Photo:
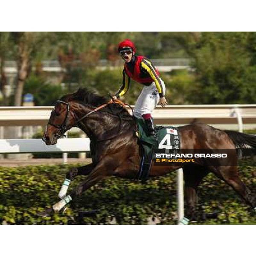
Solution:
<path fill-rule="evenodd" d="M 168 103 L 165 95 L 165 84 L 159 77 L 158 70 L 147 58 L 141 55 L 135 55 L 136 48 L 134 43 L 129 39 L 122 41 L 118 45 L 118 52 L 125 61 L 123 69 L 122 86 L 119 91 L 113 96 L 114 99 L 127 93 L 131 78 L 143 84 L 144 87 L 139 98 L 135 103 L 134 116 L 143 118 L 148 127 L 149 135 L 155 135 L 154 124 L 151 113 L 158 104 L 162 107 Z"/>

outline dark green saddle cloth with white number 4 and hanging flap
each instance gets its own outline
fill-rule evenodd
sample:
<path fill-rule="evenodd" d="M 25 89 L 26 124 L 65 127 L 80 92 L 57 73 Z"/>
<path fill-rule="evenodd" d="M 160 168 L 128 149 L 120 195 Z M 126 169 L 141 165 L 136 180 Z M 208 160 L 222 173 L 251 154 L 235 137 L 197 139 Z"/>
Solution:
<path fill-rule="evenodd" d="M 137 175 L 138 180 L 145 181 L 148 178 L 152 160 L 154 160 L 154 151 L 169 149 L 180 149 L 180 135 L 177 128 L 173 126 L 155 126 L 157 136 L 148 136 L 147 125 L 144 119 L 136 119 L 136 136 L 140 146 L 140 169 Z M 161 151 L 162 151 L 161 150 Z"/>

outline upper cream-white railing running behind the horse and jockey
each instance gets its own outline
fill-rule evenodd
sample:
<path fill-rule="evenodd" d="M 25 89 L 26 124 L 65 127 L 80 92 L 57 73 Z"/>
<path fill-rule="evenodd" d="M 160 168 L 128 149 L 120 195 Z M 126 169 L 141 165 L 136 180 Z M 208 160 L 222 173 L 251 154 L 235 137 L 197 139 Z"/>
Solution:
<path fill-rule="evenodd" d="M 52 106 L 0 107 L 0 126 L 46 125 Z M 233 125 L 243 131 L 244 125 L 256 127 L 256 104 L 251 105 L 170 105 L 157 106 L 155 124 L 183 125 L 198 121 L 216 128 Z"/>

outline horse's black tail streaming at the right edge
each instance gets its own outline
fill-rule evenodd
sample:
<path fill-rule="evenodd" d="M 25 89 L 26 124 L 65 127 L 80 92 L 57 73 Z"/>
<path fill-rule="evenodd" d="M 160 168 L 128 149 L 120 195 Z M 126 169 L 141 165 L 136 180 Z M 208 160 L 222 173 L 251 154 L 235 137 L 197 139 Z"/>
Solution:
<path fill-rule="evenodd" d="M 256 155 L 256 136 L 237 131 L 224 131 L 242 155 Z"/>

